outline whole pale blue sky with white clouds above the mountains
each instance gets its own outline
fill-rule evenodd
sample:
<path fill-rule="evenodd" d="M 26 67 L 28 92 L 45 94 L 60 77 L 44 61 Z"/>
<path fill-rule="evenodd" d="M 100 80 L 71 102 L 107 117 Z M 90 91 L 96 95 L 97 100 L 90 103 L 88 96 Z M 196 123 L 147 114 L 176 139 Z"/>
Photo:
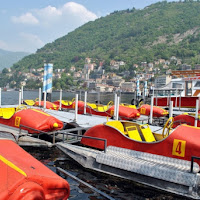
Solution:
<path fill-rule="evenodd" d="M 3 0 L 0 49 L 34 53 L 89 21 L 116 10 L 143 9 L 156 2 L 158 0 Z"/>

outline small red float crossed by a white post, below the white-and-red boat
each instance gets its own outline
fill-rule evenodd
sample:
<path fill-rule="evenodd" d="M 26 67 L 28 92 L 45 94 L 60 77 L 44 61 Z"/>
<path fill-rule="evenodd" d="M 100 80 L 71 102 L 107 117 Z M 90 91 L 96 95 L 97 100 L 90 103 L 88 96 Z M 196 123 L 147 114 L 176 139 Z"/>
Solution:
<path fill-rule="evenodd" d="M 141 115 L 149 116 L 151 112 L 151 106 L 148 104 L 144 104 L 140 108 L 138 108 L 138 111 L 140 112 Z M 164 117 L 168 114 L 169 113 L 167 110 L 160 108 L 158 106 L 153 106 L 153 117 Z"/>

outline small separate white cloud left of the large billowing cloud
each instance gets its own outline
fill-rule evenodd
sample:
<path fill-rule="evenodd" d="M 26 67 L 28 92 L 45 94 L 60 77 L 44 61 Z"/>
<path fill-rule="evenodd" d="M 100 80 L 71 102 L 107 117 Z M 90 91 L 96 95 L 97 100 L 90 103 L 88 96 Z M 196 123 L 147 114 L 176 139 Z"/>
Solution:
<path fill-rule="evenodd" d="M 39 23 L 38 19 L 35 16 L 33 16 L 33 14 L 30 12 L 24 15 L 21 15 L 19 17 L 13 16 L 11 17 L 11 20 L 14 23 L 22 23 L 22 24 L 30 24 L 30 25 L 35 25 Z"/>

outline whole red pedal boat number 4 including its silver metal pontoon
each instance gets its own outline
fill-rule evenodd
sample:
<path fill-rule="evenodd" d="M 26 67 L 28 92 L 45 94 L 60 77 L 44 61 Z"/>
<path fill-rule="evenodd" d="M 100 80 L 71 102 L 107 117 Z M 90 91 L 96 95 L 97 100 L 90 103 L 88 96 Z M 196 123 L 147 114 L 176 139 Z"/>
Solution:
<path fill-rule="evenodd" d="M 65 142 L 56 145 L 87 169 L 181 195 L 183 199 L 200 199 L 200 128 L 180 125 L 171 130 L 172 122 L 169 119 L 160 130 L 147 124 L 109 121 L 87 130 L 81 146 Z"/>

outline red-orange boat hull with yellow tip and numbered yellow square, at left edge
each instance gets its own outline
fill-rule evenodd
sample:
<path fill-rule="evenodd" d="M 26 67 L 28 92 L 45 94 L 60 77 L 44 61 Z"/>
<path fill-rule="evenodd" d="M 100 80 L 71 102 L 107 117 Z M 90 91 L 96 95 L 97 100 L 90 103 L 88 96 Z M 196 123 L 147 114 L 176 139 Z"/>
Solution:
<path fill-rule="evenodd" d="M 22 109 L 16 111 L 10 119 L 0 117 L 0 123 L 16 128 L 23 125 L 44 132 L 60 130 L 63 128 L 63 123 L 60 120 L 40 109 Z M 36 131 L 29 128 L 22 127 L 22 129 L 28 130 L 29 133 L 36 133 Z"/>

